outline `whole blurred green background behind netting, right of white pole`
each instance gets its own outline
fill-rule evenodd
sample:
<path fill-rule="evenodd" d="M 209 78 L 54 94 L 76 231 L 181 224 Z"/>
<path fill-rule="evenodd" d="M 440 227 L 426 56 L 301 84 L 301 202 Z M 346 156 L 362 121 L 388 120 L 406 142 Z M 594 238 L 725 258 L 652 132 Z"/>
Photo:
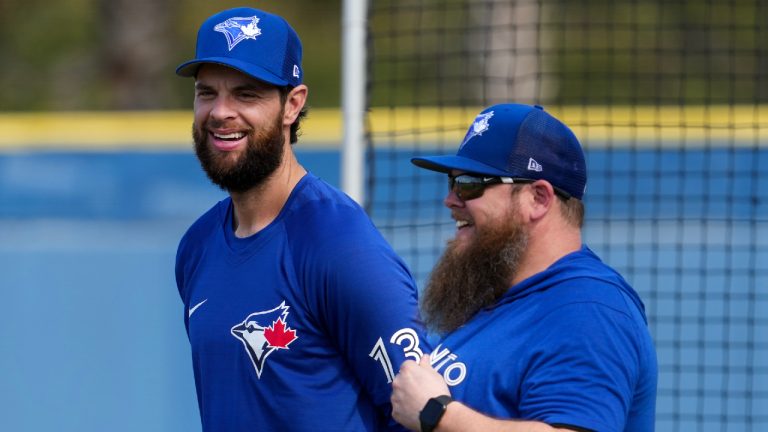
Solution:
<path fill-rule="evenodd" d="M 521 83 L 544 103 L 765 102 L 764 3 L 374 1 L 372 105 L 480 103 Z"/>

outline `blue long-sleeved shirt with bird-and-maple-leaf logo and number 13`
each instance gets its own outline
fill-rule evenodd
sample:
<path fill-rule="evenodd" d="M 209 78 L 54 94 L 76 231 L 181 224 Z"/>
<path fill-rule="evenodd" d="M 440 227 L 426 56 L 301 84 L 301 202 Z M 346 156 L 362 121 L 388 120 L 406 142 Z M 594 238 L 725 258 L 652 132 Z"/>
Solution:
<path fill-rule="evenodd" d="M 411 274 L 365 212 L 312 174 L 252 236 L 232 211 L 200 217 L 176 258 L 203 430 L 400 429 L 393 375 L 429 350 Z"/>

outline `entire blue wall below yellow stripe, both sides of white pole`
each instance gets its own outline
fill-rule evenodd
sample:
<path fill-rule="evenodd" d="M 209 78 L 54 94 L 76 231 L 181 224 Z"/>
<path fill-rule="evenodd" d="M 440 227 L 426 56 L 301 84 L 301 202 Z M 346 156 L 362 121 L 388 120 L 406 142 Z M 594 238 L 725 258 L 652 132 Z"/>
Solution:
<path fill-rule="evenodd" d="M 336 150 L 301 146 L 296 150 L 310 171 L 339 184 Z M 377 223 L 396 226 L 433 220 L 435 215 L 443 218 L 446 225 L 439 232 L 426 230 L 423 237 L 413 237 L 409 229 L 387 233 L 400 236 L 396 243 L 402 239 L 405 246 L 398 252 L 411 265 L 428 269 L 435 255 L 418 256 L 412 252 L 421 249 L 409 249 L 407 242 L 439 247 L 444 239 L 432 237 L 450 235 L 448 212 L 440 205 L 447 182 L 444 176 L 413 168 L 408 162 L 413 155 L 403 149 L 375 158 L 374 169 L 382 178 L 368 191 L 375 198 L 370 210 Z M 686 361 L 687 354 L 681 355 L 675 345 L 678 342 L 671 339 L 692 334 L 700 343 L 702 330 L 696 328 L 696 322 L 703 322 L 704 317 L 694 316 L 698 321 L 692 324 L 680 323 L 676 316 L 687 312 L 680 310 L 678 300 L 687 295 L 688 288 L 675 288 L 665 295 L 660 285 L 684 282 L 682 285 L 692 286 L 689 279 L 695 284 L 707 276 L 712 280 L 702 283 L 717 294 L 702 300 L 699 307 L 714 307 L 710 303 L 719 299 L 719 304 L 730 308 L 729 313 L 735 313 L 730 321 L 714 322 L 719 327 L 710 330 L 722 336 L 737 328 L 749 332 L 766 327 L 765 321 L 754 320 L 739 327 L 738 316 L 743 312 L 754 317 L 755 308 L 768 306 L 768 176 L 763 174 L 768 169 L 768 152 L 749 148 L 595 149 L 587 158 L 588 217 L 599 225 L 590 228 L 589 236 L 600 245 L 598 252 L 620 268 L 646 260 L 638 255 L 647 255 L 648 267 L 661 268 L 648 276 L 642 266 L 627 267 L 636 285 L 653 285 L 658 290 L 646 297 L 646 304 L 658 317 L 655 333 L 661 379 L 677 380 L 683 394 L 709 394 L 708 384 L 689 383 L 678 375 L 680 366 L 673 361 Z M 414 179 L 403 180 L 411 173 Z M 0 153 L 0 293 L 4 300 L 0 314 L 0 430 L 200 429 L 173 266 L 176 244 L 186 228 L 224 196 L 205 178 L 191 150 Z M 602 223 L 608 219 L 610 224 Z M 628 219 L 629 223 L 645 219 L 653 223 L 661 244 L 651 247 L 649 239 L 643 238 L 638 248 L 630 250 L 626 243 L 643 236 L 645 228 L 642 224 L 628 228 Z M 681 254 L 683 246 L 675 246 L 674 239 L 665 237 L 665 221 L 687 220 L 698 227 L 691 228 L 696 238 L 685 234 L 682 240 L 690 241 L 693 249 L 714 246 L 709 255 L 703 250 Z M 698 230 L 708 230 L 708 234 Z M 702 240 L 702 236 L 707 238 Z M 718 245 L 721 237 L 725 240 Z M 708 260 L 734 249 L 738 256 L 740 245 L 746 248 L 744 256 L 753 260 L 752 267 L 744 270 L 751 272 L 747 274 L 753 285 L 744 298 L 751 298 L 752 303 L 740 302 L 739 293 L 722 297 L 715 286 L 718 275 L 709 270 L 702 273 L 696 267 L 702 262 L 709 265 Z M 682 267 L 666 273 L 667 261 L 673 265 L 673 260 L 654 256 L 659 253 L 683 260 L 678 263 Z M 695 261 L 690 271 L 687 259 Z M 742 278 L 740 269 L 750 264 L 725 265 L 735 270 L 724 273 L 722 277 L 733 281 L 723 283 L 736 285 L 734 281 Z M 424 271 L 419 270 L 420 282 L 423 277 Z M 692 327 L 687 329 L 687 325 Z M 729 355 L 722 348 L 727 340 L 718 343 L 711 348 L 714 351 L 705 351 L 702 344 L 702 351 L 691 355 Z M 764 363 L 768 361 L 768 340 L 753 334 L 749 343 L 752 351 L 739 358 L 749 359 L 749 365 L 768 364 Z M 692 364 L 701 366 L 695 361 Z M 718 370 L 727 375 L 728 367 Z M 757 379 L 747 377 L 749 382 L 728 375 L 732 390 L 768 394 L 768 374 L 757 370 Z M 722 381 L 722 376 L 709 375 L 716 381 Z M 729 390 L 712 391 L 723 394 Z M 728 412 L 758 412 L 753 404 L 765 399 L 732 399 L 728 404 L 739 405 Z M 681 406 L 681 400 L 691 406 Z M 660 394 L 660 401 L 664 402 L 660 403 L 661 421 L 672 415 L 669 407 L 695 417 L 700 408 L 696 404 L 701 405 L 700 399 L 692 396 L 686 401 L 680 393 Z M 720 409 L 724 409 L 723 403 Z M 768 420 L 764 424 L 768 426 Z"/>

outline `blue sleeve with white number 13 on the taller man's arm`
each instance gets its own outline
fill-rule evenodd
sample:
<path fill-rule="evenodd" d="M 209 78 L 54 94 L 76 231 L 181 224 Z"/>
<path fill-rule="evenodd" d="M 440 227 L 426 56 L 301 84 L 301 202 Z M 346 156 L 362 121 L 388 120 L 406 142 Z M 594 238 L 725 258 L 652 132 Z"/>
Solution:
<path fill-rule="evenodd" d="M 302 221 L 313 247 L 296 264 L 299 284 L 312 287 L 311 309 L 387 430 L 403 431 L 391 418 L 392 379 L 404 360 L 430 350 L 416 283 L 361 209 L 326 205 L 322 212 Z"/>

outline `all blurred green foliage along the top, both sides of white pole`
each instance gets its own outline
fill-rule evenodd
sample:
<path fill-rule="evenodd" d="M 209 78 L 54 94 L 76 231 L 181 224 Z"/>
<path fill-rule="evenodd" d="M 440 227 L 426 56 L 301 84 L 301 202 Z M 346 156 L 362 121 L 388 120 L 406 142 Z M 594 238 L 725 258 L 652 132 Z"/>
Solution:
<path fill-rule="evenodd" d="M 538 28 L 535 48 L 515 45 L 514 26 L 526 22 L 488 24 L 503 8 L 525 3 L 539 5 L 528 24 Z M 192 83 L 175 76 L 176 65 L 193 55 L 205 18 L 243 4 L 248 3 L 0 1 L 0 111 L 188 109 Z M 338 106 L 342 0 L 252 4 L 284 16 L 299 33 L 310 105 Z M 370 4 L 376 11 L 369 23 L 373 105 L 466 104 L 492 92 L 494 83 L 524 79 L 536 80 L 544 102 L 768 100 L 767 9 L 757 0 Z M 509 41 L 508 57 L 515 61 L 535 50 L 534 77 L 484 65 L 494 34 Z"/>

